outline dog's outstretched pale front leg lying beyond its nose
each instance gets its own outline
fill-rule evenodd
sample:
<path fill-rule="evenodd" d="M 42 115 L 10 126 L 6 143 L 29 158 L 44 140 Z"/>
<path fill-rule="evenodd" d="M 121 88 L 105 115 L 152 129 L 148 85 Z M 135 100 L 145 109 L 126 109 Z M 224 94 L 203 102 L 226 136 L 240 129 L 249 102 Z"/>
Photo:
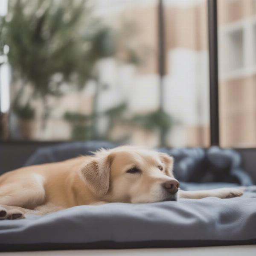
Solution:
<path fill-rule="evenodd" d="M 209 190 L 198 190 L 198 191 L 179 191 L 180 198 L 190 199 L 201 199 L 210 196 L 217 198 L 233 198 L 241 196 L 244 193 L 242 188 L 220 188 L 220 189 L 209 189 Z"/>

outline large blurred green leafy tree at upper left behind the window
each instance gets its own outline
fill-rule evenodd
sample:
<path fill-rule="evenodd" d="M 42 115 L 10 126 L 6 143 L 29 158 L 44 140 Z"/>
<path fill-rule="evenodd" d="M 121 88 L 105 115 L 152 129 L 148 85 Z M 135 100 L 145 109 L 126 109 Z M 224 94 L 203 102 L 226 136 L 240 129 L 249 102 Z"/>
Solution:
<path fill-rule="evenodd" d="M 51 111 L 49 96 L 61 96 L 64 83 L 83 88 L 93 78 L 94 63 L 112 53 L 110 30 L 91 16 L 89 3 L 9 0 L 9 14 L 0 19 L 1 45 L 10 48 L 14 81 L 22 84 L 21 91 L 30 84 L 32 96 L 41 100 L 43 128 Z"/>

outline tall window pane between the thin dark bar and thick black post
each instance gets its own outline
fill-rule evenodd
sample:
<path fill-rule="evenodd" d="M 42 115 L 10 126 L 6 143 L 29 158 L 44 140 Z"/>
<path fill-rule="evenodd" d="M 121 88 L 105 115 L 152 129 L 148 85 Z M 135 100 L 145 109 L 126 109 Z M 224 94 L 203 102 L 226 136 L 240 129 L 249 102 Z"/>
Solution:
<path fill-rule="evenodd" d="M 175 146 L 209 145 L 207 1 L 165 0 L 165 110 Z"/>

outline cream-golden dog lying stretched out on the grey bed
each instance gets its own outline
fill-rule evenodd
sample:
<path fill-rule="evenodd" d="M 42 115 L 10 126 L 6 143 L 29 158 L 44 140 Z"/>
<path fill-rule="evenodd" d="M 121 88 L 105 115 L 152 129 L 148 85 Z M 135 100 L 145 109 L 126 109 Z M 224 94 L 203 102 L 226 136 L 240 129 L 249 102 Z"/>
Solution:
<path fill-rule="evenodd" d="M 164 153 L 121 146 L 58 163 L 16 169 L 0 176 L 0 218 L 24 218 L 84 204 L 149 203 L 230 198 L 241 189 L 182 191 Z"/>

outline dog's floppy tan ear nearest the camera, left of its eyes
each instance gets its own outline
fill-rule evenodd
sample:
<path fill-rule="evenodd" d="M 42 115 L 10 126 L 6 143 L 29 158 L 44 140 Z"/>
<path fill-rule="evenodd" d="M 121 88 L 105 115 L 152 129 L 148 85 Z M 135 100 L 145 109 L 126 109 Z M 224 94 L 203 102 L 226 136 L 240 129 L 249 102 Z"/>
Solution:
<path fill-rule="evenodd" d="M 107 194 L 110 183 L 110 168 L 113 156 L 108 151 L 96 152 L 90 162 L 81 167 L 81 177 L 95 195 Z"/>

